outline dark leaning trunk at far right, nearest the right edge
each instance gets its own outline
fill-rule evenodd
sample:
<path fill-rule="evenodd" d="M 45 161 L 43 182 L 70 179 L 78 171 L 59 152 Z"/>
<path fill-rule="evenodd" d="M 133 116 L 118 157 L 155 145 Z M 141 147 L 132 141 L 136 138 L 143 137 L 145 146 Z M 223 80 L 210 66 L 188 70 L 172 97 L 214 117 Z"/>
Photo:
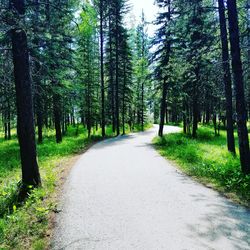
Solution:
<path fill-rule="evenodd" d="M 242 171 L 250 173 L 249 138 L 246 126 L 247 112 L 245 104 L 243 70 L 241 61 L 241 50 L 239 42 L 239 24 L 236 0 L 227 0 L 229 34 L 231 44 L 232 69 L 234 73 L 234 84 L 236 90 L 236 111 L 239 137 L 240 162 Z"/>

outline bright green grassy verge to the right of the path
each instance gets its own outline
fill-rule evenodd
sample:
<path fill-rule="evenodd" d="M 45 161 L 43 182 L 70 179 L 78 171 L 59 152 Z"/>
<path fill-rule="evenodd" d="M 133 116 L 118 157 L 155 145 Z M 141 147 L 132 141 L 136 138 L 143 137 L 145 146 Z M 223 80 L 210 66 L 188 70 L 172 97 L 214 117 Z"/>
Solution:
<path fill-rule="evenodd" d="M 237 156 L 228 153 L 225 131 L 214 136 L 212 128 L 201 127 L 197 139 L 176 133 L 157 137 L 154 144 L 161 155 L 175 161 L 186 174 L 250 206 L 250 176 L 241 173 L 238 149 Z"/>

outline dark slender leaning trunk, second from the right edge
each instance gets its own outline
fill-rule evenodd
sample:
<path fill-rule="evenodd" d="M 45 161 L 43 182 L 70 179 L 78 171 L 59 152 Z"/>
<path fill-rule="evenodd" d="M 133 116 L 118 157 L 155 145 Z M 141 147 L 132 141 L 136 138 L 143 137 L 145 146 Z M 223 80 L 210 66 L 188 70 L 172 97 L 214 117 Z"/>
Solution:
<path fill-rule="evenodd" d="M 224 85 L 226 94 L 226 119 L 227 119 L 227 148 L 228 151 L 235 154 L 234 141 L 234 127 L 233 127 L 233 102 L 232 102 L 232 81 L 229 64 L 229 49 L 228 49 L 228 35 L 227 24 L 225 17 L 224 0 L 219 2 L 219 16 L 220 16 L 220 32 L 222 45 L 222 63 L 224 73 Z"/>

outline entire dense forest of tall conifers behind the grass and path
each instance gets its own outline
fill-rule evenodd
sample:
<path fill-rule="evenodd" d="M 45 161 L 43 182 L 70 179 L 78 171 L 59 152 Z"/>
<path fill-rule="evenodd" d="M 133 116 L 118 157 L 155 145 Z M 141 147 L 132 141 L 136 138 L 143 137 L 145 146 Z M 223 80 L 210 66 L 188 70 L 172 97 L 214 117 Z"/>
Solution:
<path fill-rule="evenodd" d="M 61 143 L 70 125 L 114 135 L 145 124 L 199 123 L 239 137 L 250 172 L 250 1 L 157 0 L 155 36 L 142 11 L 118 0 L 1 1 L 1 127 L 17 128 L 22 179 L 39 186 L 36 143 L 44 128 Z M 15 133 L 15 132 L 14 132 Z"/>

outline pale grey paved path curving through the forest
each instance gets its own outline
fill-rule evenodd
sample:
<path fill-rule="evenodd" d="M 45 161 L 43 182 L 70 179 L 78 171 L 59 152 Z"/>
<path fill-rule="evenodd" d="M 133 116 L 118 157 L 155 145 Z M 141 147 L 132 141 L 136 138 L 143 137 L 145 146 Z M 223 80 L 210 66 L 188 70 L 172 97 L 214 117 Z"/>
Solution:
<path fill-rule="evenodd" d="M 156 131 L 100 142 L 81 156 L 52 249 L 250 249 L 249 210 L 176 171 L 150 145 Z"/>

